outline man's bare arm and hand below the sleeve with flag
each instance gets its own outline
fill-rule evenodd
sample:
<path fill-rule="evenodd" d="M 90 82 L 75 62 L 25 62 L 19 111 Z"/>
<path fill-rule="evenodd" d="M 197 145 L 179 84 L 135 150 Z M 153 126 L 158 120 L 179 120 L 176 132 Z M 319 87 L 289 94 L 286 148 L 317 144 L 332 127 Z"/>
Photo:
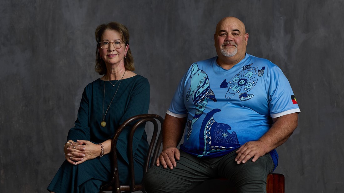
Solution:
<path fill-rule="evenodd" d="M 236 153 L 235 161 L 246 163 L 249 159 L 255 162 L 259 157 L 277 148 L 287 141 L 298 126 L 298 113 L 283 115 L 272 119 L 274 124 L 258 141 L 249 141 L 243 144 Z"/>

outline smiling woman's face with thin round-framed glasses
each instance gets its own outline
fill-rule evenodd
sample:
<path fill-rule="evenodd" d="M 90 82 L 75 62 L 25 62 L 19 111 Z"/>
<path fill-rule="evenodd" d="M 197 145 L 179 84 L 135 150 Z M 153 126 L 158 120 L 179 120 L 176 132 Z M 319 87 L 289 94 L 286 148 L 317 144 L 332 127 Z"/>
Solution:
<path fill-rule="evenodd" d="M 103 49 L 99 46 L 99 53 L 105 64 L 120 64 L 123 63 L 124 56 L 127 55 L 129 45 L 126 45 L 122 39 L 120 33 L 116 30 L 105 30 L 100 38 L 101 45 L 107 47 Z M 120 48 L 115 48 L 121 45 Z"/>

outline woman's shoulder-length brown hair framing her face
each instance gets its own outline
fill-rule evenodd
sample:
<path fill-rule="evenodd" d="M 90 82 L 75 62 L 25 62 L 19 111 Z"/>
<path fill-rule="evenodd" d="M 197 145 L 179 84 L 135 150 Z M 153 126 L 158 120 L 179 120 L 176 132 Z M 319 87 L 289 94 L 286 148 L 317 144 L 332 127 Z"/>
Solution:
<path fill-rule="evenodd" d="M 116 30 L 122 38 L 122 41 L 125 43 L 125 46 L 129 44 L 129 32 L 126 26 L 117 23 L 117 22 L 110 22 L 108 24 L 101 24 L 96 29 L 96 41 L 97 41 L 97 49 L 96 49 L 96 66 L 94 69 L 100 75 L 106 74 L 106 65 L 104 60 L 100 57 L 99 53 L 99 42 L 101 41 L 101 36 L 103 35 L 105 30 Z M 130 47 L 127 51 L 127 56 L 124 59 L 124 67 L 126 70 L 134 71 L 134 58 L 131 55 Z"/>

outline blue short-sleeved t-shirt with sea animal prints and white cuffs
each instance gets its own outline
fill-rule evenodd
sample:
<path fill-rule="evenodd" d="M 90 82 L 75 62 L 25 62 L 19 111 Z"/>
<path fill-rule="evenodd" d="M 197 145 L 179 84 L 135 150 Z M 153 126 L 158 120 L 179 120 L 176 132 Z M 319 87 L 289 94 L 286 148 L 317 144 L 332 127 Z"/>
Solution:
<path fill-rule="evenodd" d="M 197 157 L 223 156 L 258 140 L 271 128 L 271 118 L 300 112 L 286 76 L 275 64 L 246 54 L 226 70 L 216 59 L 191 65 L 167 111 L 187 117 L 180 148 Z M 278 154 L 270 154 L 276 167 Z"/>

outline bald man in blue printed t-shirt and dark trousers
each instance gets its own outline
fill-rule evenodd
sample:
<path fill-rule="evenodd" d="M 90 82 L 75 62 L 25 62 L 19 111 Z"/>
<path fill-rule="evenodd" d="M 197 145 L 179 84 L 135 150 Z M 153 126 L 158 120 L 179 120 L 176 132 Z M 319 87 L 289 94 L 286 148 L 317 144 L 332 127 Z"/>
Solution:
<path fill-rule="evenodd" d="M 297 127 L 300 109 L 287 78 L 246 53 L 244 23 L 222 19 L 214 40 L 217 57 L 194 63 L 175 92 L 162 153 L 145 177 L 148 192 L 187 192 L 218 177 L 240 193 L 266 192 L 278 164 L 275 148 Z"/>

